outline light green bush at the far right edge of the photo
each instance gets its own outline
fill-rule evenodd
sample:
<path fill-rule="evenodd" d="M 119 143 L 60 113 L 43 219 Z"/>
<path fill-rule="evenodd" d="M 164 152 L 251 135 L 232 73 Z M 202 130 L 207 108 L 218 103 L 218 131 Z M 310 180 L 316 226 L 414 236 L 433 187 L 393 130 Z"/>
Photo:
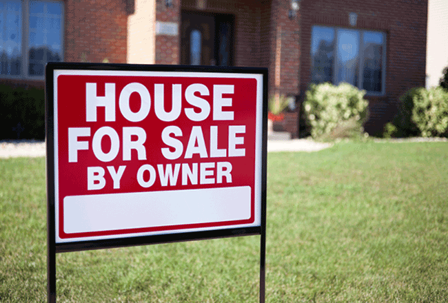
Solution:
<path fill-rule="evenodd" d="M 421 136 L 448 136 L 448 92 L 442 87 L 420 88 L 412 99 L 412 121 Z"/>

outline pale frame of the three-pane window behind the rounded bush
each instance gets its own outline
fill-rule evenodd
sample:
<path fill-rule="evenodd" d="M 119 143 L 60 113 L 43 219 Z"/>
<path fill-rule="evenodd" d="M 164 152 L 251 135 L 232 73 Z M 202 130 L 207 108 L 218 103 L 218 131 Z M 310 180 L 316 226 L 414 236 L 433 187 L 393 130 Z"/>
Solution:
<path fill-rule="evenodd" d="M 312 25 L 312 31 L 314 30 L 314 28 L 331 28 L 332 30 L 334 30 L 334 62 L 333 62 L 333 75 L 332 75 L 332 83 L 334 85 L 336 85 L 336 67 L 338 66 L 338 55 L 337 55 L 337 47 L 338 47 L 338 30 L 356 30 L 357 32 L 359 32 L 359 45 L 358 45 L 358 50 L 359 50 L 359 65 L 358 65 L 358 89 L 360 90 L 364 90 L 363 89 L 363 78 L 364 78 L 364 72 L 363 72 L 363 68 L 364 68 L 364 61 L 365 61 L 365 55 L 364 55 L 364 51 L 365 51 L 365 43 L 364 43 L 364 33 L 365 32 L 376 32 L 379 33 L 383 36 L 383 58 L 382 58 L 382 62 L 381 62 L 381 74 L 382 74 L 382 79 L 381 79 L 381 92 L 373 92 L 373 91 L 367 91 L 365 90 L 365 94 L 367 96 L 385 96 L 386 94 L 386 58 L 387 58 L 387 33 L 383 32 L 381 30 L 369 30 L 369 29 L 363 29 L 363 28 L 345 28 L 345 27 L 341 27 L 341 26 L 330 26 L 330 25 L 320 25 L 320 24 L 314 24 Z M 311 34 L 311 41 L 309 45 L 313 45 L 313 35 Z M 313 62 L 313 55 L 312 55 L 312 48 L 310 47 L 310 59 L 311 59 L 311 71 L 310 71 L 310 79 L 313 78 L 313 68 L 314 68 L 314 62 Z"/>

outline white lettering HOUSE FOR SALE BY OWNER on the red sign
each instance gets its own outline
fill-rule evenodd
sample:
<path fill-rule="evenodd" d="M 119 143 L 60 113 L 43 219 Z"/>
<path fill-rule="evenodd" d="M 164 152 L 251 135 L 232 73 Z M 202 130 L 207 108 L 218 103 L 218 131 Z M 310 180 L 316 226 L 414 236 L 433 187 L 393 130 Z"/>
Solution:
<path fill-rule="evenodd" d="M 172 109 L 165 111 L 163 84 L 154 84 L 154 113 L 163 122 L 175 121 L 182 114 L 182 85 L 173 84 L 172 87 Z M 136 112 L 131 110 L 131 94 L 139 94 L 140 108 Z M 212 106 L 203 96 L 210 96 L 210 90 L 201 83 L 194 83 L 185 88 L 185 101 L 189 104 L 183 109 L 185 116 L 192 122 L 204 121 L 212 114 L 213 121 L 233 121 L 234 112 L 231 110 L 232 98 L 225 98 L 223 95 L 234 94 L 234 85 L 213 85 Z M 152 98 L 147 87 L 141 83 L 129 83 L 123 87 L 119 94 L 116 94 L 115 83 L 105 83 L 105 95 L 98 96 L 96 83 L 85 84 L 85 121 L 97 121 L 98 107 L 104 107 L 105 122 L 116 121 L 116 97 L 118 96 L 118 107 L 121 115 L 129 122 L 136 123 L 143 121 L 151 110 Z M 221 126 L 222 128 L 223 126 Z M 184 134 L 182 129 L 176 125 L 165 127 L 161 133 L 161 140 L 167 147 L 161 148 L 161 154 L 167 160 L 179 158 L 191 159 L 194 155 L 199 158 L 223 158 L 223 157 L 244 157 L 244 134 L 245 125 L 226 125 L 228 134 L 227 147 L 218 148 L 218 125 L 210 126 L 209 145 L 206 145 L 203 135 L 203 128 L 194 125 L 190 134 Z M 207 129 L 208 130 L 208 129 Z M 103 151 L 101 143 L 103 138 L 108 137 L 110 149 Z M 179 140 L 183 136 L 188 136 L 186 146 Z M 186 137 L 185 137 L 186 138 Z M 138 160 L 147 160 L 145 142 L 147 134 L 142 127 L 121 127 L 114 129 L 110 126 L 103 126 L 92 134 L 91 127 L 68 127 L 68 162 L 77 163 L 79 153 L 92 149 L 96 159 L 103 163 L 108 163 L 122 151 L 123 161 L 132 159 L 132 149 L 136 151 Z M 156 168 L 157 172 L 156 172 Z M 125 165 L 107 166 L 108 176 L 113 181 L 113 188 L 120 189 L 120 181 L 126 169 Z M 88 190 L 103 189 L 106 183 L 106 171 L 101 166 L 88 167 Z M 205 162 L 205 163 L 176 163 L 142 165 L 136 172 L 136 180 L 143 188 L 154 185 L 159 177 L 161 186 L 175 186 L 181 176 L 181 185 L 205 185 L 232 182 L 232 164 L 228 161 Z M 149 175 L 149 178 L 144 178 Z"/>

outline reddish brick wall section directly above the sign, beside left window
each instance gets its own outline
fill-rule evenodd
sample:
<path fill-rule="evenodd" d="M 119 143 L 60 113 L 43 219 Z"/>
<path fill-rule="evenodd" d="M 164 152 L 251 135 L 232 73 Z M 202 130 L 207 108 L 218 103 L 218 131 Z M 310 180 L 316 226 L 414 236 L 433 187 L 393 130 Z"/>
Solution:
<path fill-rule="evenodd" d="M 125 1 L 65 1 L 64 60 L 126 63 L 127 23 Z"/>

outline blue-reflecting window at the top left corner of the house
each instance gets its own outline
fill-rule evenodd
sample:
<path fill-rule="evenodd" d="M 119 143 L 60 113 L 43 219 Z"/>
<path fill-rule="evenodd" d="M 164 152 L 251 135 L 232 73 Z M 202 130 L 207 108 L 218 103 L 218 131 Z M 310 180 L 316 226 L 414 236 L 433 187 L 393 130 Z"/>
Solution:
<path fill-rule="evenodd" d="M 63 3 L 0 0 L 0 76 L 42 79 L 63 59 Z"/>

